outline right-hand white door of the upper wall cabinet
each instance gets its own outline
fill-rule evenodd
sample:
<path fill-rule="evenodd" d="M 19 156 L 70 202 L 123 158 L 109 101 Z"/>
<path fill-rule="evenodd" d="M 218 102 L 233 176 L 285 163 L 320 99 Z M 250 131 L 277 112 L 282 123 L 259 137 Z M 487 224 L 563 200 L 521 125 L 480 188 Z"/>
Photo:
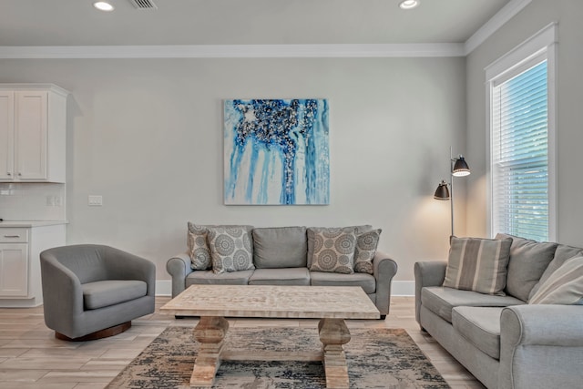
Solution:
<path fill-rule="evenodd" d="M 47 92 L 15 92 L 15 179 L 46 179 Z"/>

